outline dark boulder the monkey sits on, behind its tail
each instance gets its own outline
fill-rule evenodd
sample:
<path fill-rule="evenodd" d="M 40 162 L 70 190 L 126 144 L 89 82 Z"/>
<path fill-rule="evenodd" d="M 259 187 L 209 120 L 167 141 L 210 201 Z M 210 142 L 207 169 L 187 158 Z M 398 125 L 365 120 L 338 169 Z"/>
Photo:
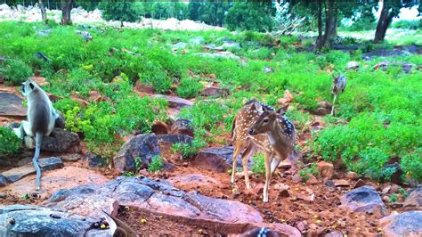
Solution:
<path fill-rule="evenodd" d="M 35 149 L 35 139 L 32 136 L 25 136 L 25 147 L 28 149 Z M 41 143 L 41 151 L 48 152 L 66 152 L 66 151 L 79 151 L 79 136 L 76 133 L 72 133 L 63 130 L 59 127 L 53 129 L 53 132 L 49 136 L 43 138 Z"/>

